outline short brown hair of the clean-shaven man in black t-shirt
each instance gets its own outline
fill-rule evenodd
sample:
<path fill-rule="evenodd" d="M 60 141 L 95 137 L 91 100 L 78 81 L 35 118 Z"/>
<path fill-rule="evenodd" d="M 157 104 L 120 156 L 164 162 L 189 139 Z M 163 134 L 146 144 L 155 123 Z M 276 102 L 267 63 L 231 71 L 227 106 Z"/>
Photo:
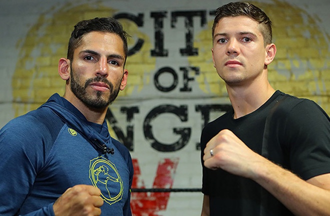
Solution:
<path fill-rule="evenodd" d="M 215 17 L 212 26 L 212 37 L 214 29 L 218 21 L 223 17 L 228 16 L 248 16 L 261 24 L 261 33 L 264 40 L 264 45 L 270 44 L 272 40 L 271 20 L 263 10 L 248 2 L 230 2 L 218 7 L 215 11 Z"/>

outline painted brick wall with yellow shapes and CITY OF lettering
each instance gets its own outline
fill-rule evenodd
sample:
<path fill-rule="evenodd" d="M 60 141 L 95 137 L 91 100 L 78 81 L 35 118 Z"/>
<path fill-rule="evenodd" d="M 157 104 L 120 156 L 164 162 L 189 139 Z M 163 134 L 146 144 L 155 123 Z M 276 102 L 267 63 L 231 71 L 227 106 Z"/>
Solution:
<path fill-rule="evenodd" d="M 136 188 L 200 188 L 199 135 L 228 98 L 211 58 L 212 10 L 227 0 L 15 0 L 0 8 L 0 125 L 63 94 L 58 59 L 81 19 L 117 16 L 133 54 L 110 106 L 110 133 L 129 147 Z M 253 1 L 273 21 L 272 86 L 330 113 L 328 0 Z M 321 6 L 320 6 L 321 5 Z M 190 36 L 186 37 L 186 32 Z M 142 41 L 139 43 L 139 41 Z M 200 192 L 133 193 L 135 215 L 198 215 Z"/>

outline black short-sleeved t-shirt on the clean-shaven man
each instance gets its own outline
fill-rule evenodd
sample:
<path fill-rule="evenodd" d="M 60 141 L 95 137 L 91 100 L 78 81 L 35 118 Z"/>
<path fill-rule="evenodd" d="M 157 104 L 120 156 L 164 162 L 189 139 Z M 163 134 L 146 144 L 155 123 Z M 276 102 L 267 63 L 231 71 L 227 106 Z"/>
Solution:
<path fill-rule="evenodd" d="M 233 119 L 233 110 L 202 130 L 202 192 L 210 215 L 293 215 L 253 180 L 203 165 L 206 143 L 220 130 L 231 130 L 249 148 L 302 179 L 330 172 L 330 119 L 313 101 L 280 91 L 257 110 Z"/>

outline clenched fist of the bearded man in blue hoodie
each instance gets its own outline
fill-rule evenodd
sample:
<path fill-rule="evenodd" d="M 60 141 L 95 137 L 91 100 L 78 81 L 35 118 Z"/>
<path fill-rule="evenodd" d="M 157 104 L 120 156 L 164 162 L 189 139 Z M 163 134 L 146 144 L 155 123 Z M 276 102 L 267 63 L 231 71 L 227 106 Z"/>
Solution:
<path fill-rule="evenodd" d="M 101 191 L 92 185 L 79 184 L 68 188 L 53 204 L 56 216 L 100 215 Z"/>

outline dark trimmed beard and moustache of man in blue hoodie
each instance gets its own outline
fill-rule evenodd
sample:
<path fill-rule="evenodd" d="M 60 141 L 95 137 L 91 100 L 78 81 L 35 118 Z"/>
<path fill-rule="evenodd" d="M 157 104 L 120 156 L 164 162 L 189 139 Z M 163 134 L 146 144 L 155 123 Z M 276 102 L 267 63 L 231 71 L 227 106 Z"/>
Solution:
<path fill-rule="evenodd" d="M 85 84 L 83 85 L 82 83 L 80 83 L 79 77 L 76 77 L 73 73 L 73 70 L 71 69 L 70 78 L 71 78 L 70 87 L 72 92 L 79 100 L 81 100 L 81 102 L 83 102 L 83 104 L 85 104 L 89 108 L 97 108 L 97 109 L 105 108 L 113 102 L 113 100 L 117 97 L 119 93 L 120 82 L 116 83 L 114 88 L 113 84 L 103 76 L 96 76 L 94 78 L 89 78 L 86 80 Z M 97 91 L 96 97 L 94 98 L 93 95 L 87 94 L 86 88 L 88 84 L 95 81 L 104 82 L 110 87 L 110 95 L 107 99 L 102 98 L 103 95 L 102 91 Z"/>

